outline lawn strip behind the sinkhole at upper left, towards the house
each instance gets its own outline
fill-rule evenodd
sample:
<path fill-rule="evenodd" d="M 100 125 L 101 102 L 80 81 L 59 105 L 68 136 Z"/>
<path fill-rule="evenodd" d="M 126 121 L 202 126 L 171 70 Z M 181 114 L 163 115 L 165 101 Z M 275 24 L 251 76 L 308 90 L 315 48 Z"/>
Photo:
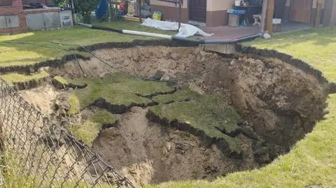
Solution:
<path fill-rule="evenodd" d="M 137 31 L 148 31 L 160 34 L 174 34 L 174 32 L 171 31 L 161 31 L 151 27 L 143 27 L 139 22 L 120 21 L 98 24 L 112 28 L 133 29 Z M 118 34 L 83 27 L 53 31 L 31 31 L 24 34 L 0 36 L 0 67 L 15 65 L 22 66 L 36 64 L 47 59 L 59 59 L 66 54 L 71 54 L 71 52 L 66 52 L 62 50 L 62 48 L 65 48 L 66 50 L 76 48 L 76 46 L 73 45 L 92 45 L 107 42 L 132 42 L 135 39 L 149 40 L 153 38 Z M 50 41 L 57 41 L 59 43 L 69 45 L 59 46 L 50 43 Z M 78 53 L 76 50 L 73 52 Z"/>

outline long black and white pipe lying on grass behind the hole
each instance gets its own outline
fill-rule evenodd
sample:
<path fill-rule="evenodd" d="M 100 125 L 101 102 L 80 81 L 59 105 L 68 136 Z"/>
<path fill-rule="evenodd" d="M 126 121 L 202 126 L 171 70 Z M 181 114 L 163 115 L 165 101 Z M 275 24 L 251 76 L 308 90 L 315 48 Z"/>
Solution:
<path fill-rule="evenodd" d="M 133 30 L 125 30 L 125 29 L 113 29 L 111 27 L 102 27 L 99 25 L 92 25 L 92 24 L 83 24 L 83 23 L 76 23 L 80 26 L 91 28 L 91 29 L 99 29 L 104 31 L 112 31 L 119 34 L 130 34 L 130 35 L 138 35 L 138 36 L 151 36 L 156 38 L 165 38 L 172 41 L 180 41 L 180 42 L 186 42 L 186 43 L 197 43 L 197 44 L 229 44 L 229 43 L 239 43 L 242 41 L 251 40 L 253 38 L 262 37 L 262 33 L 260 34 L 253 34 L 248 36 L 243 36 L 240 38 L 235 39 L 197 39 L 197 38 L 183 38 L 179 36 L 170 36 L 166 34 L 155 34 L 155 33 L 149 33 L 144 31 L 133 31 Z"/>

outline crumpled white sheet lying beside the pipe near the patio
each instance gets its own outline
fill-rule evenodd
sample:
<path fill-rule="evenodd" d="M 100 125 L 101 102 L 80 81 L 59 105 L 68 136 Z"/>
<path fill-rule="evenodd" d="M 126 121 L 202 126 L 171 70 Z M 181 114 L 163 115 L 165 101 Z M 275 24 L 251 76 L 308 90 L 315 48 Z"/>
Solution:
<path fill-rule="evenodd" d="M 141 25 L 146 26 L 146 27 L 154 27 L 156 29 L 161 29 L 161 30 L 169 30 L 169 31 L 179 30 L 178 22 L 165 22 L 165 21 L 160 21 L 160 20 L 152 20 L 149 17 Z M 206 32 L 202 31 L 202 29 L 195 27 L 191 24 L 181 24 L 179 34 L 176 34 L 175 36 L 186 38 L 188 36 L 194 36 L 195 34 L 199 34 L 202 36 L 214 35 L 214 34 L 207 34 Z"/>

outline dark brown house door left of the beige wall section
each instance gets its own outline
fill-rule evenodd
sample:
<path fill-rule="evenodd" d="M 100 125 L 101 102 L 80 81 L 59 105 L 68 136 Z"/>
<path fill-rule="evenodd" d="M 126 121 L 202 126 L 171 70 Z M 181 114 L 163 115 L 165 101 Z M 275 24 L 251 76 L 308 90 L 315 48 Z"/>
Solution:
<path fill-rule="evenodd" d="M 189 20 L 205 22 L 207 18 L 207 0 L 189 1 Z"/>

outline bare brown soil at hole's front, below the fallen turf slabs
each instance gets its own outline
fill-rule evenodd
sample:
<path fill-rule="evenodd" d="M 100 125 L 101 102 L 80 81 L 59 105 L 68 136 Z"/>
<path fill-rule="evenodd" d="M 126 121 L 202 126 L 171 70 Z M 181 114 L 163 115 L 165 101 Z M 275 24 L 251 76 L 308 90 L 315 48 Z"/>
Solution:
<path fill-rule="evenodd" d="M 239 170 L 239 166 L 255 167 L 254 162 L 226 157 L 216 145 L 204 145 L 188 132 L 148 122 L 147 111 L 132 108 L 120 116 L 119 126 L 102 131 L 92 145 L 92 150 L 133 182 L 212 180 Z"/>

